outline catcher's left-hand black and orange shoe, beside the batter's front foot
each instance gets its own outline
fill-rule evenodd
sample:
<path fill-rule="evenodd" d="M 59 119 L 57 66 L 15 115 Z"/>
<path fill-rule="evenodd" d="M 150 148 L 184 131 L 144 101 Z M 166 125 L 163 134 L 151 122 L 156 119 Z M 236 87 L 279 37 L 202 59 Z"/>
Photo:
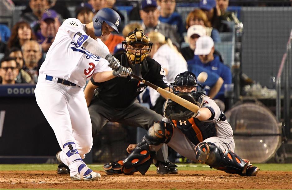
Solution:
<path fill-rule="evenodd" d="M 126 175 L 133 175 L 133 169 L 125 169 L 124 168 L 123 160 L 113 162 L 113 163 L 106 163 L 103 165 L 104 172 L 107 175 L 118 175 L 118 174 L 126 174 Z"/>

